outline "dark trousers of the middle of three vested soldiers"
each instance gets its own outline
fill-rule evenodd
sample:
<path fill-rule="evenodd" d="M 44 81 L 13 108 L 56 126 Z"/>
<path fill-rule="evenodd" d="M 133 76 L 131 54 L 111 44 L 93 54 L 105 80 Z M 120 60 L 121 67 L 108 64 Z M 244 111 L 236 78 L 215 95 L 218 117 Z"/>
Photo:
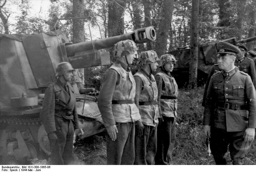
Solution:
<path fill-rule="evenodd" d="M 152 165 L 156 155 L 156 133 L 156 127 L 150 125 L 144 125 L 142 136 L 135 132 L 134 165 Z"/>

